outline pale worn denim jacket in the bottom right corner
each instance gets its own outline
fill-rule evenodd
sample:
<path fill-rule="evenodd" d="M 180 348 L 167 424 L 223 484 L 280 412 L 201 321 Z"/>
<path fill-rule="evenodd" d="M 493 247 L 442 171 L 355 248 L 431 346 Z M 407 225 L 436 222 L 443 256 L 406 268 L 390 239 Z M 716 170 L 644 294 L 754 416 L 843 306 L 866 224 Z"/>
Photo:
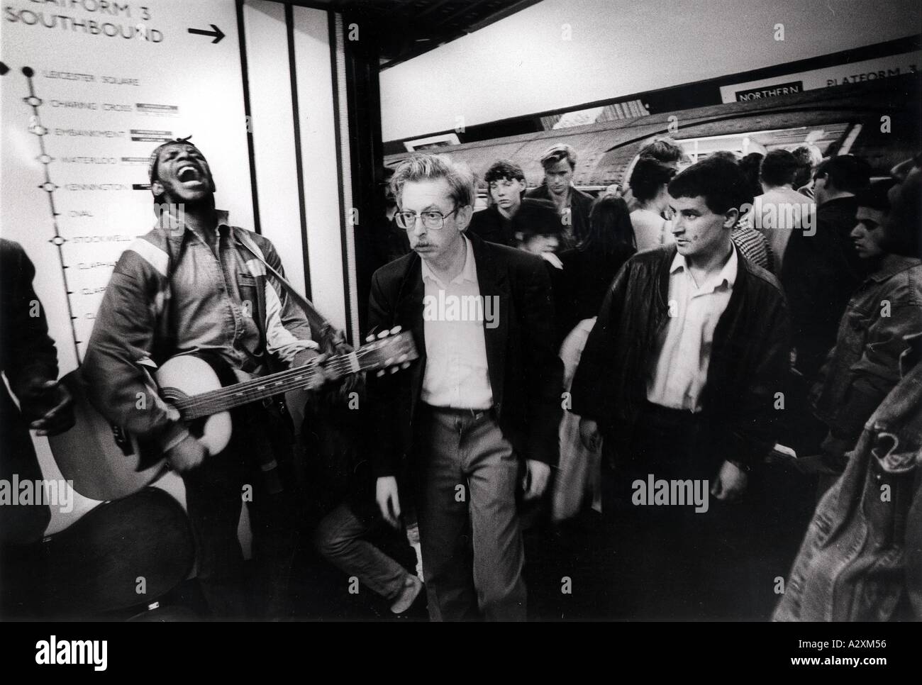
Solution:
<path fill-rule="evenodd" d="M 817 506 L 774 620 L 922 619 L 922 332 Z"/>

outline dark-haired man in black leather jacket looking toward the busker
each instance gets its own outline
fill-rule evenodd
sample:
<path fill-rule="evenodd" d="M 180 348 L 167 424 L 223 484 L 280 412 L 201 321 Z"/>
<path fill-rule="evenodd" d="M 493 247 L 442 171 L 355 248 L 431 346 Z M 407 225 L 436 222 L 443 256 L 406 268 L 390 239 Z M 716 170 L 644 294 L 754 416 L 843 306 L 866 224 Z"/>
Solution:
<path fill-rule="evenodd" d="M 778 436 L 789 321 L 777 280 L 730 238 L 747 196 L 737 165 L 705 159 L 668 190 L 676 244 L 621 268 L 586 342 L 572 410 L 583 417 L 584 443 L 604 434 L 617 455 L 616 508 L 626 503 L 632 523 L 623 558 L 642 564 L 628 577 L 643 576 L 625 596 L 648 618 L 711 608 L 719 617 L 734 606 L 727 589 L 745 586 L 737 569 L 751 549 L 739 543 L 751 536 L 751 512 L 729 502 L 745 501 L 751 469 Z M 703 498 L 692 507 L 642 492 L 657 479 L 673 495 L 676 483 L 694 483 Z M 743 549 L 747 556 L 734 556 Z"/>

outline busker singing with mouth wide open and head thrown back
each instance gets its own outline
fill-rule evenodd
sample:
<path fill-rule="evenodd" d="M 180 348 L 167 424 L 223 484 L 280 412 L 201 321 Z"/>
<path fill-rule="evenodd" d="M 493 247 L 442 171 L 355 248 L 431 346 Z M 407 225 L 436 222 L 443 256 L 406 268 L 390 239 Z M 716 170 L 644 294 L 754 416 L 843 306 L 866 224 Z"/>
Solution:
<path fill-rule="evenodd" d="M 232 378 L 317 361 L 307 318 L 271 273 L 282 273 L 271 242 L 232 226 L 215 207 L 215 181 L 187 139 L 156 148 L 149 161 L 157 222 L 124 251 L 100 305 L 83 365 L 93 404 L 106 419 L 155 443 L 185 484 L 197 577 L 212 615 L 283 617 L 297 539 L 290 419 L 274 403 L 232 413 L 217 455 L 166 405 L 151 373 L 195 354 Z M 263 262 L 265 260 L 265 264 Z M 319 379 L 323 370 L 317 369 Z M 139 403 L 138 398 L 145 402 Z M 143 408 L 139 408 L 143 407 Z M 254 593 L 243 590 L 238 523 L 252 488 Z"/>

